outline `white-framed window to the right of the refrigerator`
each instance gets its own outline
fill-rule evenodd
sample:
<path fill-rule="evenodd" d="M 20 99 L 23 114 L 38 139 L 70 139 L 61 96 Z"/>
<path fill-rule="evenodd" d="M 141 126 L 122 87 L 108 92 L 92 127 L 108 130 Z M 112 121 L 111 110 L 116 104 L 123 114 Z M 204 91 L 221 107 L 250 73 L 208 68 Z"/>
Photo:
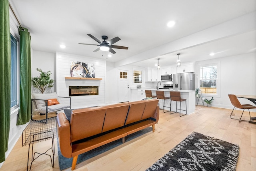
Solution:
<path fill-rule="evenodd" d="M 200 89 L 202 93 L 217 94 L 217 64 L 200 66 Z"/>

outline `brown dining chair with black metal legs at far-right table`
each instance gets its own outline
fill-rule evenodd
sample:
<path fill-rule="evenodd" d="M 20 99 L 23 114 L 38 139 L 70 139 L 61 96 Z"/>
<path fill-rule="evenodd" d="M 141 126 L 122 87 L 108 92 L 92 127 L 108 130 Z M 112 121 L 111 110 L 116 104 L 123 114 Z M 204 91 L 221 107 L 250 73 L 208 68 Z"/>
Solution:
<path fill-rule="evenodd" d="M 253 105 L 250 105 L 250 104 L 241 105 L 240 101 L 237 99 L 236 95 L 234 95 L 234 94 L 228 94 L 228 97 L 229 97 L 232 105 L 234 106 L 234 108 L 233 108 L 233 110 L 232 110 L 232 112 L 230 113 L 230 116 L 229 116 L 231 119 L 235 119 L 235 118 L 231 117 L 235 107 L 238 108 L 238 109 L 248 109 L 250 119 L 251 119 L 251 114 L 250 114 L 249 109 L 256 109 L 256 106 L 253 106 Z M 242 112 L 242 115 L 243 115 L 243 113 L 244 113 L 244 110 Z M 240 119 L 236 119 L 236 120 L 239 120 L 239 122 L 241 122 L 241 121 L 250 121 L 250 120 L 241 120 L 242 115 L 241 115 Z"/>

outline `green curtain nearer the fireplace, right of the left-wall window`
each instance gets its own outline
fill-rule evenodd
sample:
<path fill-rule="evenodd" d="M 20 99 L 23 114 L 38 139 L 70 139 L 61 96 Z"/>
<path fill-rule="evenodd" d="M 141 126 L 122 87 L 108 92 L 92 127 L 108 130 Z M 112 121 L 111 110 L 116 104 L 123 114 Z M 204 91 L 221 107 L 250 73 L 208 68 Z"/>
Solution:
<path fill-rule="evenodd" d="M 31 52 L 30 33 L 27 28 L 20 32 L 20 111 L 17 125 L 26 124 L 31 116 Z"/>

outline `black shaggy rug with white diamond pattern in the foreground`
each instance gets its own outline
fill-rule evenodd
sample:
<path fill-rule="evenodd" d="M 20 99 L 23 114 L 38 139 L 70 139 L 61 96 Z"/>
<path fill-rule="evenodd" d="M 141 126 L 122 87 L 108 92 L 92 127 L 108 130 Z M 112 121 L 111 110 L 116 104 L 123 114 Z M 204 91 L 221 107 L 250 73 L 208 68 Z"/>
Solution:
<path fill-rule="evenodd" d="M 239 146 L 193 132 L 146 171 L 235 171 Z"/>

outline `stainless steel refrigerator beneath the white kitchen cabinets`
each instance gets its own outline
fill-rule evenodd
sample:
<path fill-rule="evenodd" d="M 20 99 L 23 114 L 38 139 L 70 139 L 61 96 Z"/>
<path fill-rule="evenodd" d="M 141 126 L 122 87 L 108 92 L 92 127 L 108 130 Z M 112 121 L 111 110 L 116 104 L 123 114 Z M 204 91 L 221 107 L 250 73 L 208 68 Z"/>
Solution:
<path fill-rule="evenodd" d="M 172 74 L 173 89 L 195 90 L 195 73 Z"/>

